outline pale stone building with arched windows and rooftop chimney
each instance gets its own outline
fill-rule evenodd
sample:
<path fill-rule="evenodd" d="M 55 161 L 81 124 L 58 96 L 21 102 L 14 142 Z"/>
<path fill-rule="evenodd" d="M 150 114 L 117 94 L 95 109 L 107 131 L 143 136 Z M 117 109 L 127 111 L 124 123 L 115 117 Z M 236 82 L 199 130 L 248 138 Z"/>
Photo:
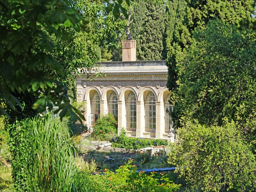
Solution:
<path fill-rule="evenodd" d="M 118 133 L 128 136 L 167 139 L 172 119 L 168 113 L 165 60 L 136 61 L 135 40 L 123 41 L 123 61 L 100 62 L 99 76 L 89 81 L 77 75 L 77 101 L 86 105 L 86 124 L 91 127 L 99 115 L 112 113 L 118 121 Z M 95 73 L 95 72 L 92 72 Z"/>

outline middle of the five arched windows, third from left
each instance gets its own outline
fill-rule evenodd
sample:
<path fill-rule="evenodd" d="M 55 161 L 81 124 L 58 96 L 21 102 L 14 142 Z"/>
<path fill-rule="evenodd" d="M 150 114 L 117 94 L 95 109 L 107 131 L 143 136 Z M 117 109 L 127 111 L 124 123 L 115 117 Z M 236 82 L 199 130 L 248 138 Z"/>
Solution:
<path fill-rule="evenodd" d="M 126 97 L 126 127 L 136 128 L 136 96 L 133 91 Z"/>

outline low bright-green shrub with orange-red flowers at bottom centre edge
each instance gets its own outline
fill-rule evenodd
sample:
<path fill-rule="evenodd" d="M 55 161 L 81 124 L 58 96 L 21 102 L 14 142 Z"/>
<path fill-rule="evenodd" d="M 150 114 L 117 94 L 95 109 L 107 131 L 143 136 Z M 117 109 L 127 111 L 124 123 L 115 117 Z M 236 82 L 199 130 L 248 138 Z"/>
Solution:
<path fill-rule="evenodd" d="M 179 185 L 174 184 L 169 178 L 162 174 L 159 183 L 156 173 L 147 175 L 144 172 L 137 173 L 136 165 L 129 161 L 120 166 L 115 173 L 105 170 L 105 175 L 91 176 L 96 191 L 177 191 Z"/>

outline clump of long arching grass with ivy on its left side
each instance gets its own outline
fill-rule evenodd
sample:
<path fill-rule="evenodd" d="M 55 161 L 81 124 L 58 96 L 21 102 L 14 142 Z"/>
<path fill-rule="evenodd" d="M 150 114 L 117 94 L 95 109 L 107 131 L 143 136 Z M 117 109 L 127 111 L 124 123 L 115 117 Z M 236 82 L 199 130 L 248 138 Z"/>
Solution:
<path fill-rule="evenodd" d="M 77 191 L 74 148 L 59 119 L 36 116 L 10 127 L 17 191 Z"/>

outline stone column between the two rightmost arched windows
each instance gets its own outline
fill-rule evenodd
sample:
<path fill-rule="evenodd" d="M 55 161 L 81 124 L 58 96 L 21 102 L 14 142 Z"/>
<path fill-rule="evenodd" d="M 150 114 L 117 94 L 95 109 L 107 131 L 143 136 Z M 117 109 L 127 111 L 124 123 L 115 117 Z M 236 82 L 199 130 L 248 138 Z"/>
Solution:
<path fill-rule="evenodd" d="M 162 139 L 163 133 L 165 132 L 165 121 L 164 121 L 164 102 L 156 102 L 156 138 Z"/>

